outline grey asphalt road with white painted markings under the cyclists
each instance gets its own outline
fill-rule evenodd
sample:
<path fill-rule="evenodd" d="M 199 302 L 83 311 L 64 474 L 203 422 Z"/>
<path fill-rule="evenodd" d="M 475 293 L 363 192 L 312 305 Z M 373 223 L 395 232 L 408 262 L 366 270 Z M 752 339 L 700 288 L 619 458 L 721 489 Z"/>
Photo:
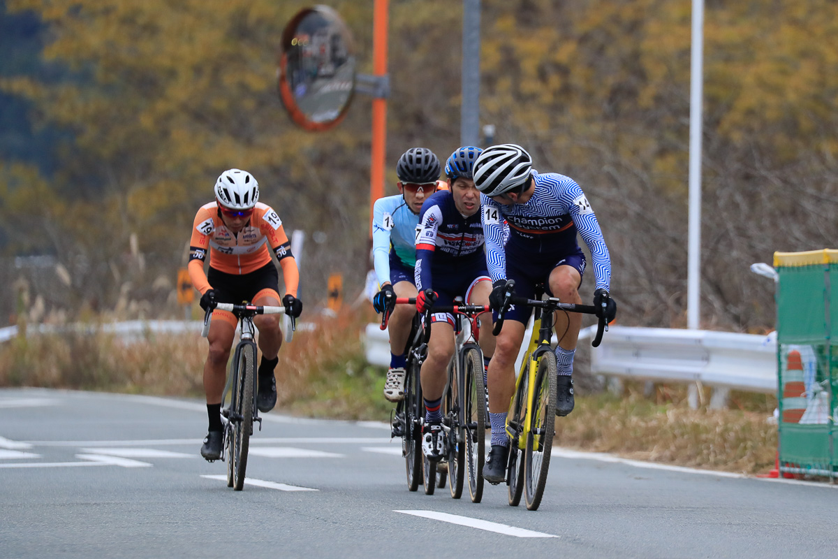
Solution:
<path fill-rule="evenodd" d="M 0 557 L 829 557 L 838 491 L 559 449 L 541 508 L 406 488 L 384 424 L 266 415 L 241 492 L 205 406 L 0 391 Z"/>

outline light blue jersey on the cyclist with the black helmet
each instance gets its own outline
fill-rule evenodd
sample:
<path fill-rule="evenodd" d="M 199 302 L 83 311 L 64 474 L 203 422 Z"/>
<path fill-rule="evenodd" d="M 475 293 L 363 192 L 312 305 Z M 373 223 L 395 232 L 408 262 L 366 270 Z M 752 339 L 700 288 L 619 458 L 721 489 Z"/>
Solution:
<path fill-rule="evenodd" d="M 419 215 L 414 214 L 404 196 L 396 194 L 375 200 L 372 211 L 372 254 L 375 277 L 379 285 L 391 282 L 390 254 L 405 267 L 416 266 L 416 226 Z"/>

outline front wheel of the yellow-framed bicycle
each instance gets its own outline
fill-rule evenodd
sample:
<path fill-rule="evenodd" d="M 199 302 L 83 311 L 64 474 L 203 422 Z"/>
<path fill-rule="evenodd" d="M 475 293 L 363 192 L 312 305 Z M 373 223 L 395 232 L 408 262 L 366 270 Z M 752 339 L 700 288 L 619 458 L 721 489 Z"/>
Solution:
<path fill-rule="evenodd" d="M 550 452 L 556 427 L 556 355 L 545 351 L 538 358 L 535 374 L 530 432 L 527 434 L 524 493 L 527 510 L 537 510 L 544 496 Z"/>

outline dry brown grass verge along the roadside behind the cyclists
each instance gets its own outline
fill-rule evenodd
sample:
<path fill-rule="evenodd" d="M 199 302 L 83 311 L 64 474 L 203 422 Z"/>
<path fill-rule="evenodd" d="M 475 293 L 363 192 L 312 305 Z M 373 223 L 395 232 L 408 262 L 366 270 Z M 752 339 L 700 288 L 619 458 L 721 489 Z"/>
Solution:
<path fill-rule="evenodd" d="M 297 332 L 280 351 L 277 409 L 386 421 L 391 405 L 381 396 L 385 371 L 365 362 L 360 336 L 371 319 L 347 311 L 316 318 L 313 331 Z M 197 335 L 149 335 L 134 344 L 104 334 L 15 339 L 0 346 L 0 386 L 203 397 L 206 347 Z M 578 394 L 572 415 L 556 421 L 557 443 L 747 474 L 773 466 L 777 427 L 766 418 L 775 399 L 734 393 L 725 411 L 691 410 L 685 399 L 683 386 L 656 386 L 649 397 L 632 385 L 622 396 Z"/>

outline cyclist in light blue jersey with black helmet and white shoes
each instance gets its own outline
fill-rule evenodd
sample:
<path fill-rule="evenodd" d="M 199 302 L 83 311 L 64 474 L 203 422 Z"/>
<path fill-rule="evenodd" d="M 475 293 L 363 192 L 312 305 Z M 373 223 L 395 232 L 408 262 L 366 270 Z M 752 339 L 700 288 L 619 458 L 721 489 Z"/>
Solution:
<path fill-rule="evenodd" d="M 416 226 L 422 203 L 436 192 L 441 172 L 439 159 L 431 150 L 408 149 L 396 164 L 400 194 L 377 199 L 373 204 L 373 265 L 381 287 L 373 298 L 373 308 L 376 313 L 392 313 L 388 326 L 390 369 L 384 385 L 384 397 L 389 401 L 405 397 L 405 347 L 415 313 L 407 305 L 394 308 L 395 298 L 416 297 Z"/>

